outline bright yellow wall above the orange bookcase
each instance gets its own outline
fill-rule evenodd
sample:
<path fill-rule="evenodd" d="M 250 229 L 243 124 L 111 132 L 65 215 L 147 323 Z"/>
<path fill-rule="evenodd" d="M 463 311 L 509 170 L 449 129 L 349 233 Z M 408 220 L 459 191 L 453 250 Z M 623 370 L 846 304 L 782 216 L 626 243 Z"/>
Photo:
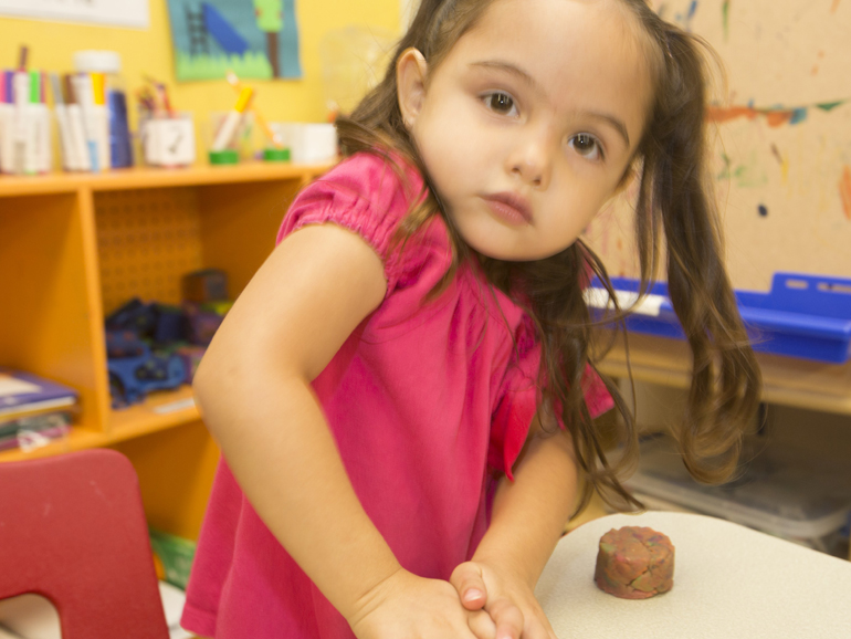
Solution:
<path fill-rule="evenodd" d="M 251 84 L 258 90 L 258 105 L 266 119 L 322 122 L 326 112 L 317 48 L 323 35 L 349 24 L 397 33 L 399 0 L 296 0 L 296 14 L 303 78 Z M 166 0 L 150 0 L 150 28 L 146 31 L 0 18 L 1 67 L 17 64 L 21 44 L 30 48 L 32 67 L 56 72 L 72 71 L 72 55 L 81 49 L 117 51 L 128 88 L 138 88 L 146 73 L 165 81 L 175 107 L 197 114 L 201 135 L 207 113 L 225 111 L 234 102 L 233 91 L 224 81 L 176 84 Z M 135 107 L 132 111 L 135 122 Z"/>

